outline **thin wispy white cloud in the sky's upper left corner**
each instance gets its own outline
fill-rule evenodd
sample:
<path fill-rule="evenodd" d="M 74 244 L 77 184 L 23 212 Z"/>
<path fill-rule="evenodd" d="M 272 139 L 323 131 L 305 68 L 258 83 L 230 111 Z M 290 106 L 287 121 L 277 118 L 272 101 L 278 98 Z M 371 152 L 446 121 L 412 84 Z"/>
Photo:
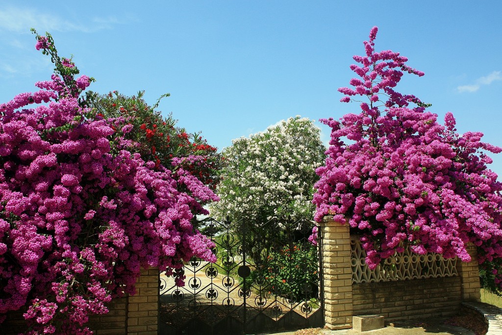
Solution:
<path fill-rule="evenodd" d="M 30 28 L 39 32 L 53 31 L 80 31 L 84 33 L 110 29 L 113 25 L 132 21 L 131 19 L 118 20 L 114 16 L 106 18 L 95 17 L 93 24 L 71 22 L 49 13 L 41 13 L 31 8 L 8 7 L 0 10 L 0 30 L 15 33 L 30 33 Z"/>

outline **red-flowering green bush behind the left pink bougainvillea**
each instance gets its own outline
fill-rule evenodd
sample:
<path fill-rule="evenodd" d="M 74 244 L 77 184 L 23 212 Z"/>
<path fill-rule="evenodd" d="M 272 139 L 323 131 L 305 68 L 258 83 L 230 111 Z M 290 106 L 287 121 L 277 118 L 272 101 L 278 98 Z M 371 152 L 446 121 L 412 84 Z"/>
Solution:
<path fill-rule="evenodd" d="M 171 116 L 163 118 L 160 112 L 146 104 L 142 95 L 140 92 L 138 96 L 127 97 L 113 91 L 96 96 L 92 105 L 98 106 L 99 116 L 115 120 L 115 127 L 123 134 L 120 142 L 124 148 L 139 152 L 144 159 L 154 162 L 156 169 L 164 166 L 176 171 L 181 167 L 215 189 L 219 180 L 215 171 L 222 164 L 217 149 L 208 145 L 199 134 L 176 128 L 176 121 Z M 192 156 L 198 158 L 184 159 Z M 182 159 L 173 163 L 176 157 Z"/>

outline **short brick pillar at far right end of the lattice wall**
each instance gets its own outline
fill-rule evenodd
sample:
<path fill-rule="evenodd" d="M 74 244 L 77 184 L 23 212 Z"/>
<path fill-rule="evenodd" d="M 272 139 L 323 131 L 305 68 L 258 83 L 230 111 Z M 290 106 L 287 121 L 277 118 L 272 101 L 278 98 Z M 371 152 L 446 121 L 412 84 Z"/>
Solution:
<path fill-rule="evenodd" d="M 479 283 L 479 267 L 477 262 L 477 248 L 472 243 L 467 245 L 467 252 L 471 256 L 470 262 L 457 263 L 457 272 L 460 276 L 461 296 L 464 301 L 480 301 L 481 285 Z"/>

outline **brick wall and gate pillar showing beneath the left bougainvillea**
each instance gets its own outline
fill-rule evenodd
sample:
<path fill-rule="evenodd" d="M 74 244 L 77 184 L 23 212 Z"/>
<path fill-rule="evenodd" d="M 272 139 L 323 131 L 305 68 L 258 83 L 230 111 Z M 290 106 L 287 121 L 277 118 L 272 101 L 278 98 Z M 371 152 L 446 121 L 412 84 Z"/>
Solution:
<path fill-rule="evenodd" d="M 157 335 L 159 270 L 142 270 L 136 288 L 136 295 L 115 298 L 107 304 L 107 314 L 90 317 L 87 326 L 95 335 Z M 9 313 L 0 325 L 2 335 L 17 335 L 25 330 L 22 311 Z"/>

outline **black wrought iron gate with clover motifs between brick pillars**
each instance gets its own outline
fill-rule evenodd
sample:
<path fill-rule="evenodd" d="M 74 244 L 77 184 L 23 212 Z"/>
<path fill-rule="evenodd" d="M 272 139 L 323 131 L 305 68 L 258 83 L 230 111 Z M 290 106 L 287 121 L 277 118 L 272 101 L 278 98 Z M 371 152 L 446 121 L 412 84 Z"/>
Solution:
<path fill-rule="evenodd" d="M 192 258 L 185 286 L 161 274 L 159 333 L 264 333 L 323 326 L 322 264 L 308 237 L 314 222 L 202 221 L 216 263 Z"/>

